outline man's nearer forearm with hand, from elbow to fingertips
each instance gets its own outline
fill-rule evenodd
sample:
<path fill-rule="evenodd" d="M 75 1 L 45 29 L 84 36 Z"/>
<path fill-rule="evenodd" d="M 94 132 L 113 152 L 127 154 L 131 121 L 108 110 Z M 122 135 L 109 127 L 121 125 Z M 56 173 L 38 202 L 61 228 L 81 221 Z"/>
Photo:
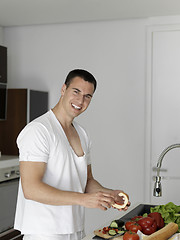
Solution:
<path fill-rule="evenodd" d="M 92 182 L 91 182 L 92 183 Z M 93 186 L 99 192 L 80 193 L 71 191 L 61 191 L 45 183 L 39 183 L 36 187 L 30 187 L 26 192 L 26 198 L 48 205 L 81 205 L 87 208 L 100 208 L 107 210 L 113 203 L 111 194 L 102 191 L 102 186 L 97 181 L 93 181 Z M 89 185 L 90 186 L 90 185 Z M 103 188 L 104 189 L 104 188 Z M 28 194 L 27 194 L 28 192 Z"/>

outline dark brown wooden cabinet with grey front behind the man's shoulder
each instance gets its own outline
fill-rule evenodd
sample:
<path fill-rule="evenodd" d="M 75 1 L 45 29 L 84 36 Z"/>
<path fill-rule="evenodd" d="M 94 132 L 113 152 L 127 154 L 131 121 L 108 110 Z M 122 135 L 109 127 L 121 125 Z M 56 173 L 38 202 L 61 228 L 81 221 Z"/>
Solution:
<path fill-rule="evenodd" d="M 0 121 L 0 151 L 18 155 L 16 139 L 25 125 L 48 110 L 48 92 L 8 89 L 7 118 Z"/>

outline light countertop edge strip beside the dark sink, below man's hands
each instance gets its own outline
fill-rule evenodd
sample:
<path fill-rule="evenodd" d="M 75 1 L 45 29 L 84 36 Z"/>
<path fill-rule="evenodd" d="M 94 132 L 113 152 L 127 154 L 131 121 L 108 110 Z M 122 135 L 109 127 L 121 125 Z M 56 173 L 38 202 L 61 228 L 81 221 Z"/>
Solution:
<path fill-rule="evenodd" d="M 139 204 L 140 204 L 140 203 L 137 203 L 137 204 L 134 204 L 134 205 L 130 206 L 127 211 L 118 212 L 118 210 L 117 210 L 117 216 L 113 217 L 113 219 L 111 219 L 111 220 L 108 221 L 108 222 L 104 222 L 104 224 L 102 223 L 101 226 L 97 226 L 96 229 L 101 229 L 101 228 L 103 228 L 103 227 L 109 226 L 110 223 L 111 223 L 111 221 L 113 221 L 113 220 L 115 220 L 115 219 L 122 218 L 122 217 L 125 216 L 127 213 L 129 213 L 130 211 L 132 211 L 133 209 L 135 209 Z M 96 230 L 96 229 L 94 229 L 94 230 Z M 83 240 L 92 240 L 92 238 L 93 238 L 94 236 L 95 236 L 95 235 L 94 235 L 94 233 L 92 232 L 92 233 L 88 234 L 86 237 L 84 237 Z M 120 240 L 120 239 L 122 239 L 122 237 L 118 237 L 118 238 L 114 238 L 114 239 L 117 239 L 117 240 L 119 239 L 119 240 Z"/>

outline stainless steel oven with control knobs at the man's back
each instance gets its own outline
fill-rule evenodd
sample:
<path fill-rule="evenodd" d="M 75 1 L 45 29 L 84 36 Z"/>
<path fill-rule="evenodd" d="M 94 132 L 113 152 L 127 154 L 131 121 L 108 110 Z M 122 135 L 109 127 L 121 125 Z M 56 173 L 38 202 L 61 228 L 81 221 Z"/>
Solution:
<path fill-rule="evenodd" d="M 0 157 L 0 234 L 14 226 L 19 185 L 17 156 Z"/>

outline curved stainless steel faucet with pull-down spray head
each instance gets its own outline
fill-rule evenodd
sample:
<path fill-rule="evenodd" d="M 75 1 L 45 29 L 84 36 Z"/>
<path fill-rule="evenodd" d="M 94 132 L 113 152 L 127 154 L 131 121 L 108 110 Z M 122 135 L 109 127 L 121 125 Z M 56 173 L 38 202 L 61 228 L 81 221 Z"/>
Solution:
<path fill-rule="evenodd" d="M 166 155 L 167 152 L 169 152 L 171 149 L 178 148 L 178 147 L 180 148 L 179 143 L 172 144 L 169 147 L 165 148 L 162 151 L 161 155 L 159 156 L 158 163 L 157 163 L 157 176 L 156 176 L 156 181 L 155 181 L 155 184 L 154 184 L 154 191 L 153 191 L 153 196 L 155 196 L 155 197 L 161 197 L 162 196 L 161 177 L 159 176 L 160 168 L 161 168 L 161 165 L 162 165 L 162 160 L 163 160 L 163 158 L 164 158 L 164 156 Z"/>

